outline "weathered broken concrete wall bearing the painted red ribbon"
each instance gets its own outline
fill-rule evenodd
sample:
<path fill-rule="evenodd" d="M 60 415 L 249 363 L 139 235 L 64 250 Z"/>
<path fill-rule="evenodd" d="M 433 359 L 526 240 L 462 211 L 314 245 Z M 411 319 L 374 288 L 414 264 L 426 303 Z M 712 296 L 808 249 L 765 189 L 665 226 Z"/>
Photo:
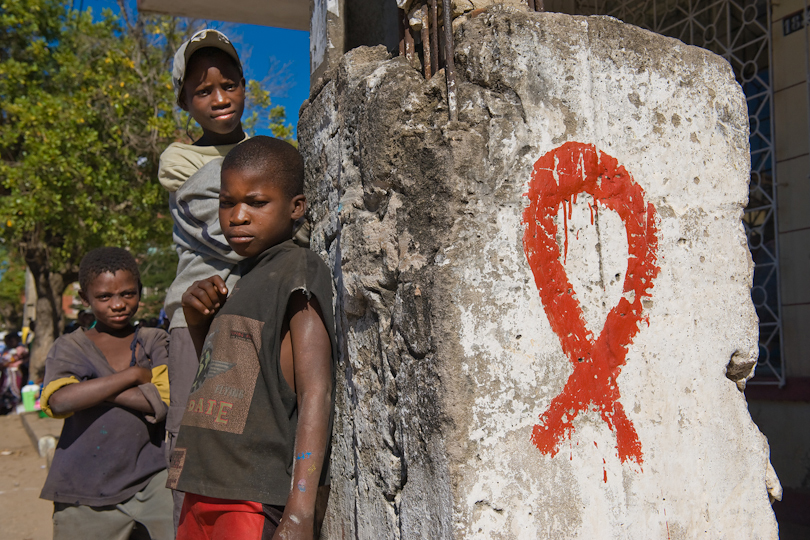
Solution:
<path fill-rule="evenodd" d="M 302 110 L 341 343 L 323 536 L 777 538 L 731 69 L 610 18 L 456 40 L 458 123 L 382 47 Z"/>

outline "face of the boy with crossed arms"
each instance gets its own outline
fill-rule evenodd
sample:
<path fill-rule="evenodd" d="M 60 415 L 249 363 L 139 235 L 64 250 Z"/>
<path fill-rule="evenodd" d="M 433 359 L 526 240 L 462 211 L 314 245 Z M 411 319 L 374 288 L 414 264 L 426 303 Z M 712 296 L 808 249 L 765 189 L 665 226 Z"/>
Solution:
<path fill-rule="evenodd" d="M 138 280 L 126 270 L 97 275 L 86 291 L 79 291 L 82 302 L 96 316 L 99 330 L 121 330 L 138 311 L 141 295 Z"/>

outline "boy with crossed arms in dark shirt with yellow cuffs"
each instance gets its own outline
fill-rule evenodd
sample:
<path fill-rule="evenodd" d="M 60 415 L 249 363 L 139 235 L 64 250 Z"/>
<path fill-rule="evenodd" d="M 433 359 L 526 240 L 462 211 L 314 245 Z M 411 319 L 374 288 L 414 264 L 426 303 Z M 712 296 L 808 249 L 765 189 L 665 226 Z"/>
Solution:
<path fill-rule="evenodd" d="M 124 539 L 145 529 L 152 540 L 171 540 L 168 335 L 132 325 L 141 280 L 126 250 L 90 251 L 79 284 L 96 325 L 54 342 L 40 400 L 48 415 L 65 418 L 40 494 L 54 501 L 53 538 Z"/>

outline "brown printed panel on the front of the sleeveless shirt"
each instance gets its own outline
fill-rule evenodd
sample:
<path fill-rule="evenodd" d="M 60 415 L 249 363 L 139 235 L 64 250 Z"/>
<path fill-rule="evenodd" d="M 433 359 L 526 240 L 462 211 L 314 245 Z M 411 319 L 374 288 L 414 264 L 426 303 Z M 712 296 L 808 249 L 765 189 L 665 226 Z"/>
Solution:
<path fill-rule="evenodd" d="M 263 326 L 239 315 L 214 319 L 182 425 L 242 433 L 259 376 Z"/>

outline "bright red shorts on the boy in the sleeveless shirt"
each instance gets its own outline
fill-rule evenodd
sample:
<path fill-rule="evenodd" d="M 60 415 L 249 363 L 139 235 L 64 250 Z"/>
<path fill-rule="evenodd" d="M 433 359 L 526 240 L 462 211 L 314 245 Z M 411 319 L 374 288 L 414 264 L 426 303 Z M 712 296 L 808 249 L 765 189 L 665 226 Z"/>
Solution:
<path fill-rule="evenodd" d="M 283 506 L 186 493 L 177 540 L 270 540 Z"/>

